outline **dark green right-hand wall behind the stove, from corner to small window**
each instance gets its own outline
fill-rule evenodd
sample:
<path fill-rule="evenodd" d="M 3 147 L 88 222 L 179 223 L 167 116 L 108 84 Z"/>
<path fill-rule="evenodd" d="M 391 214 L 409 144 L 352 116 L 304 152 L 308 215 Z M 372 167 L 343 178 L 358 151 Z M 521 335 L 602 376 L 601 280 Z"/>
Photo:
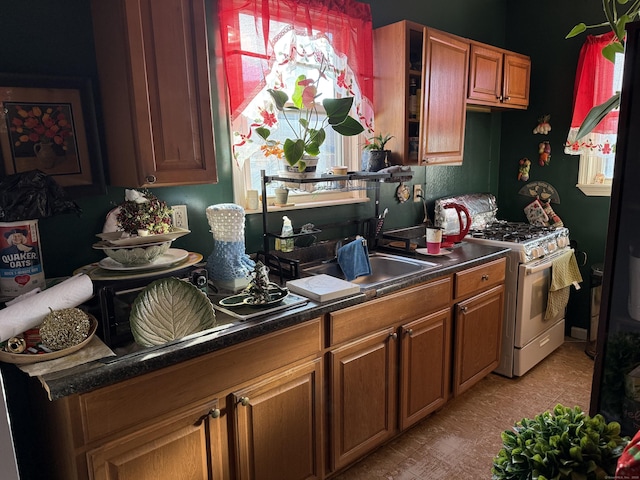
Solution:
<path fill-rule="evenodd" d="M 565 155 L 563 144 L 571 123 L 573 83 L 583 34 L 565 39 L 573 26 L 581 21 L 588 25 L 604 21 L 601 0 L 539 0 L 537 2 L 507 3 L 507 44 L 517 52 L 531 56 L 531 101 L 525 112 L 509 116 L 503 121 L 500 147 L 500 186 L 498 205 L 500 214 L 510 220 L 525 220 L 522 211 L 528 199 L 518 195 L 524 185 L 517 181 L 517 164 L 522 157 L 532 160 L 529 181 L 542 180 L 553 185 L 560 194 L 555 212 L 570 230 L 578 250 L 586 252 L 587 262 L 581 267 L 585 282 L 578 292 L 573 291 L 567 309 L 567 321 L 587 328 L 589 322 L 589 277 L 591 265 L 604 261 L 609 218 L 609 197 L 589 197 L 576 188 L 579 157 Z M 523 19 L 539 19 L 528 21 Z M 590 30 L 604 33 L 607 28 Z M 534 135 L 537 118 L 551 114 L 549 135 Z M 506 117 L 503 117 L 503 119 Z M 537 165 L 538 143 L 551 144 L 551 163 Z M 582 261 L 583 255 L 578 255 Z"/>

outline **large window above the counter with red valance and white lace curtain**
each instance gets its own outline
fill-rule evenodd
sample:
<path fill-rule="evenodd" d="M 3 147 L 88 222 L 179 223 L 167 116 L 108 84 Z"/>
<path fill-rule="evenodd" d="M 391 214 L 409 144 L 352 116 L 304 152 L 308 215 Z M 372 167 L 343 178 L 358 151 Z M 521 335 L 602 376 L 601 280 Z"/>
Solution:
<path fill-rule="evenodd" d="M 368 5 L 353 0 L 220 0 L 218 5 L 231 105 L 234 196 L 236 203 L 244 205 L 246 190 L 261 189 L 262 170 L 274 175 L 283 168 L 281 160 L 261 150 L 264 141 L 256 126 L 266 124 L 265 115 L 273 115 L 269 139 L 292 136 L 284 114 L 273 108 L 269 89 L 282 89 L 291 97 L 292 88 L 285 87 L 295 85 L 299 75 L 317 79 L 322 69 L 317 101 L 353 97 L 351 116 L 371 135 L 371 14 Z M 324 112 L 318 113 L 322 120 Z M 317 172 L 329 171 L 332 165 L 357 169 L 362 136 L 343 137 L 331 128 L 325 133 Z M 362 195 L 336 194 L 329 182 L 287 186 L 294 188 L 295 203 L 357 200 Z"/>

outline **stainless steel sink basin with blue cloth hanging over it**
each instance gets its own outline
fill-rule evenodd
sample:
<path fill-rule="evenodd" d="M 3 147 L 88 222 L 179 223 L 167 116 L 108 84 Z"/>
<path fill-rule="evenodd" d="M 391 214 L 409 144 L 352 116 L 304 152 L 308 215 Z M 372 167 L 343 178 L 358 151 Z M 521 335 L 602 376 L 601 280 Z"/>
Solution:
<path fill-rule="evenodd" d="M 438 266 L 437 263 L 417 260 L 415 258 L 403 257 L 387 253 L 372 253 L 369 255 L 371 263 L 371 275 L 358 277 L 351 280 L 362 287 L 373 287 L 390 280 L 398 280 L 410 275 L 429 270 Z M 326 274 L 344 280 L 344 274 L 338 262 L 322 263 L 303 269 L 312 275 Z"/>

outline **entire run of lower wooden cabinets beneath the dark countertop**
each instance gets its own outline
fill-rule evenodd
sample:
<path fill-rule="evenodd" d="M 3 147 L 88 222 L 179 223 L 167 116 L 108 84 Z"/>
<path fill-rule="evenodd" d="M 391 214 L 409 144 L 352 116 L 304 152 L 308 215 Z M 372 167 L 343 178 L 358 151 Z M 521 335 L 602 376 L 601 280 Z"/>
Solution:
<path fill-rule="evenodd" d="M 49 478 L 326 478 L 496 368 L 504 268 L 488 262 L 43 401 Z"/>

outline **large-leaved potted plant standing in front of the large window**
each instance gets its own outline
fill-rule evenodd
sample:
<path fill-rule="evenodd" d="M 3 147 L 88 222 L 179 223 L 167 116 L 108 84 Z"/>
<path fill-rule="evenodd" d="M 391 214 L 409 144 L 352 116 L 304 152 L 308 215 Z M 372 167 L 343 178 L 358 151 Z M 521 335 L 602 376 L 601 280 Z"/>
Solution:
<path fill-rule="evenodd" d="M 284 121 L 289 126 L 292 136 L 284 143 L 270 137 L 272 127 L 277 123 L 277 115 L 268 108 L 260 110 L 263 124 L 255 132 L 265 141 L 260 148 L 265 156 L 276 155 L 286 160 L 290 167 L 297 167 L 304 172 L 307 167 L 305 155 L 317 157 L 320 147 L 325 141 L 325 128 L 331 126 L 340 135 L 353 136 L 364 131 L 362 124 L 349 115 L 353 105 L 353 97 L 325 98 L 322 106 L 326 117 L 320 120 L 318 114 L 318 82 L 324 77 L 324 66 L 321 66 L 317 79 L 300 75 L 295 81 L 294 90 L 289 95 L 280 89 L 268 90 L 273 100 L 273 108 L 283 114 Z"/>

